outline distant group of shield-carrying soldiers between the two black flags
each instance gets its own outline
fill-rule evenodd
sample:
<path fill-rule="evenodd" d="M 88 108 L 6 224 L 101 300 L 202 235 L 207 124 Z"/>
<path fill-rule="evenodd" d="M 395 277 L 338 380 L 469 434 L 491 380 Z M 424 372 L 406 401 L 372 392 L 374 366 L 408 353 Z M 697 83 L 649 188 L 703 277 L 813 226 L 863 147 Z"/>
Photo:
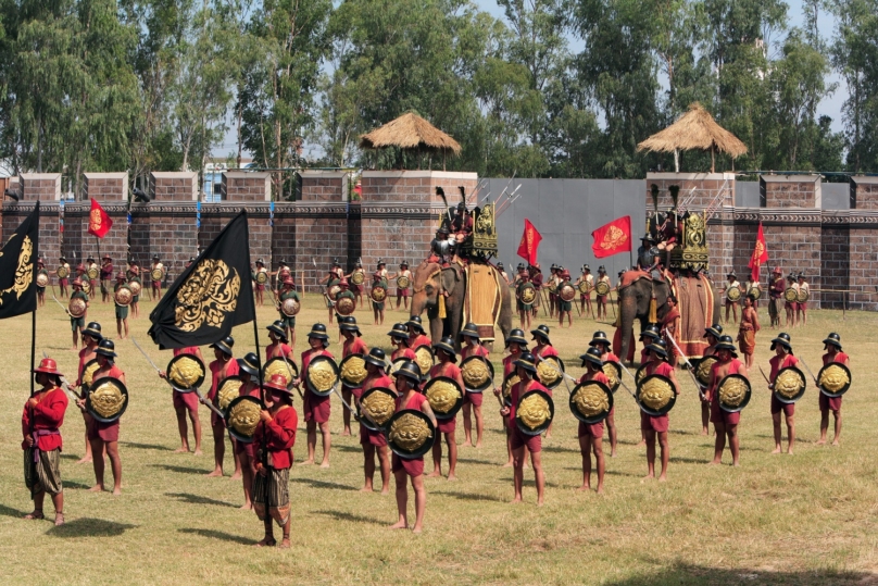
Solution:
<path fill-rule="evenodd" d="M 152 258 L 152 266 L 148 275 L 141 277 L 140 267 L 137 261 L 130 260 L 125 271 L 120 270 L 113 278 L 113 259 L 104 254 L 103 264 L 100 269 L 93 264 L 93 259 L 88 258 L 87 263 L 76 266 L 75 274 L 70 273 L 70 265 L 61 258 L 62 265 L 54 271 L 59 277 L 59 288 L 62 298 L 67 298 L 65 311 L 71 322 L 71 333 L 73 337 L 73 350 L 79 349 L 79 340 L 86 345 L 85 332 L 88 319 L 88 309 L 93 297 L 98 295 L 98 280 L 100 278 L 101 301 L 113 303 L 116 319 L 116 333 L 120 339 L 128 337 L 128 315 L 133 319 L 140 316 L 140 296 L 143 292 L 142 278 L 150 282 L 151 299 L 160 299 L 162 296 L 162 283 L 167 276 L 167 270 L 162 264 L 158 255 Z M 195 257 L 189 259 L 187 267 L 195 262 Z M 63 275 L 63 276 L 61 276 Z M 92 278 L 93 277 L 93 278 Z M 51 284 L 50 274 L 46 270 L 46 263 L 40 257 L 37 259 L 37 302 L 40 307 L 46 304 L 46 287 Z M 68 292 L 70 288 L 70 292 Z M 54 290 L 52 291 L 54 297 Z M 55 298 L 57 300 L 57 298 Z M 60 301 L 59 301 L 60 303 Z M 62 306 L 63 307 L 63 306 Z"/>

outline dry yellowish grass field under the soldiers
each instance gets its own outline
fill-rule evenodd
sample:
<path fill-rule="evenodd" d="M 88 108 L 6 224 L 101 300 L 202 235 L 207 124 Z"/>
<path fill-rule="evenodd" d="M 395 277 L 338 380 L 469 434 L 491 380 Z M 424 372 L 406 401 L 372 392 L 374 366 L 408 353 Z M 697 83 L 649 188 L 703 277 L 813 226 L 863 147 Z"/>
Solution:
<path fill-rule="evenodd" d="M 315 296 L 305 298 L 300 336 L 326 319 L 318 303 Z M 149 340 L 152 306 L 141 306 L 140 319 L 130 321 L 133 335 L 163 366 L 171 352 L 160 352 Z M 385 334 L 403 316 L 389 310 L 384 326 L 373 326 L 371 315 L 358 314 L 369 324 L 361 325 L 366 342 L 386 349 Z M 115 329 L 112 317 L 110 306 L 92 303 L 89 320 L 100 321 L 105 333 Z M 261 348 L 267 341 L 264 326 L 274 317 L 268 308 L 259 313 Z M 764 309 L 761 319 L 767 321 Z M 844 399 L 841 447 L 814 445 L 819 411 L 811 386 L 797 409 L 795 454 L 772 456 L 769 396 L 755 373 L 754 397 L 740 425 L 741 466 L 707 466 L 713 437 L 700 435 L 697 394 L 680 373 L 683 395 L 670 414 L 666 484 L 641 483 L 647 465 L 644 449 L 636 447 L 638 409 L 620 389 L 619 454 L 607 458 L 606 494 L 577 493 L 576 421 L 566 401 L 560 401 L 553 436 L 543 441 L 548 486 L 545 506 L 539 509 L 529 470 L 526 502 L 507 503 L 512 471 L 501 467 L 506 458 L 501 421 L 496 401 L 486 397 L 485 447 L 460 449 L 459 482 L 426 481 L 421 536 L 387 531 L 397 514 L 392 487 L 384 497 L 359 491 L 362 452 L 355 438 L 340 437 L 341 406 L 334 399 L 331 467 L 291 471 L 292 548 L 281 551 L 249 547 L 261 538 L 262 526 L 252 512 L 238 510 L 240 482 L 205 476 L 213 463 L 209 425 L 204 456 L 173 453 L 179 440 L 170 387 L 128 340 L 116 344 L 130 390 L 121 436 L 123 495 L 86 490 L 93 472 L 90 464 L 75 463 L 83 453 L 84 425 L 71 407 L 62 428 L 67 523 L 54 528 L 49 521 L 22 520 L 32 508 L 20 447 L 30 316 L 8 320 L 2 322 L 5 375 L 0 384 L 0 575 L 10 584 L 878 583 L 878 409 L 869 395 L 878 374 L 877 325 L 873 313 L 850 312 L 842 322 L 840 312 L 812 311 L 808 326 L 791 333 L 797 354 L 812 369 L 819 364 L 820 340 L 830 331 L 841 334 L 851 354 L 855 383 Z M 576 357 L 594 328 L 591 321 L 573 329 L 552 327 L 553 342 L 573 374 L 581 372 Z M 252 332 L 251 325 L 236 328 L 238 356 L 252 349 Z M 336 336 L 329 350 L 339 356 Z M 770 329 L 757 336 L 756 360 L 766 370 L 770 337 Z M 297 356 L 304 342 L 300 337 Z M 74 379 L 77 359 L 70 346 L 67 317 L 49 300 L 38 312 L 37 354 L 47 351 Z M 499 369 L 501 357 L 493 358 Z M 563 388 L 555 394 L 565 395 Z M 301 409 L 298 397 L 296 407 Z M 206 409 L 201 419 L 208 421 Z M 462 444 L 460 415 L 457 429 Z M 297 460 L 305 451 L 300 432 Z M 724 463 L 729 462 L 726 452 Z M 426 463 L 429 470 L 429 457 Z M 226 469 L 228 474 L 230 450 Z M 46 512 L 51 519 L 48 499 Z"/>

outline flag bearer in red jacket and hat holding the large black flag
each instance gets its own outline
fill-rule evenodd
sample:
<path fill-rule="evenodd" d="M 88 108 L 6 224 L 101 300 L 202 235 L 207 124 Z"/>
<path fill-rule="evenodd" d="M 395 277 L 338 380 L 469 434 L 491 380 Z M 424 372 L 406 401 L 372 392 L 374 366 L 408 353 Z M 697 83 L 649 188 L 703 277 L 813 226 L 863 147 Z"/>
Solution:
<path fill-rule="evenodd" d="M 265 537 L 256 547 L 277 543 L 272 525 L 275 521 L 284 532 L 277 547 L 286 549 L 290 547 L 289 479 L 299 415 L 283 374 L 273 374 L 263 383 L 263 388 L 265 409 L 260 412 L 260 423 L 253 434 L 253 449 L 259 451 L 253 460 L 252 493 L 253 510 L 265 527 Z"/>

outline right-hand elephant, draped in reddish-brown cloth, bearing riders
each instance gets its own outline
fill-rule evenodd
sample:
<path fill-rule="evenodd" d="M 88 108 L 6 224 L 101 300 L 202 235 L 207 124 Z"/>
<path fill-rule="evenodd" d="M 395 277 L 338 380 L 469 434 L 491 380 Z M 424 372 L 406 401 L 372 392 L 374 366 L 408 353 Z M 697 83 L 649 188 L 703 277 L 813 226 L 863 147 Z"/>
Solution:
<path fill-rule="evenodd" d="M 713 291 L 713 320 L 716 321 L 719 319 L 719 300 L 720 294 L 719 290 L 711 284 L 706 279 L 700 279 L 698 277 L 677 277 L 677 292 L 679 295 L 679 287 L 682 285 L 682 280 L 686 279 L 686 286 L 688 284 L 694 284 L 695 286 L 702 286 L 702 284 L 707 284 Z M 670 287 L 668 283 L 664 279 L 651 279 L 651 278 L 639 278 L 619 289 L 619 316 L 620 316 L 620 332 L 631 332 L 634 326 L 635 320 L 640 320 L 640 328 L 641 331 L 647 327 L 649 323 L 649 314 L 650 314 L 650 299 L 652 298 L 652 294 L 655 294 L 655 304 L 656 304 L 656 315 L 658 317 L 658 323 L 661 324 L 664 320 L 665 315 L 668 312 L 667 308 L 667 298 L 670 294 Z M 705 324 L 704 327 L 710 327 L 712 325 L 711 322 L 707 321 L 706 316 L 704 320 Z M 686 329 L 687 324 L 683 323 L 683 329 Z M 701 332 L 698 333 L 690 333 L 690 335 L 698 335 L 698 339 L 701 339 Z M 622 344 L 619 348 L 617 348 L 617 356 L 620 360 L 625 360 L 628 356 L 628 348 L 629 344 L 634 344 L 632 339 L 629 339 L 628 336 L 620 336 Z M 706 341 L 705 341 L 706 346 Z"/>

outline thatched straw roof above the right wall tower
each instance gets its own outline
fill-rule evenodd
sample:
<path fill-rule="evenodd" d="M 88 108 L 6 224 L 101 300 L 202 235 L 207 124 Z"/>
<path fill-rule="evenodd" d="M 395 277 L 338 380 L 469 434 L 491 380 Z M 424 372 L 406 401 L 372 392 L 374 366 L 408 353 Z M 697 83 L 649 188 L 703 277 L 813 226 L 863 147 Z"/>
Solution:
<path fill-rule="evenodd" d="M 714 173 L 717 150 L 735 159 L 745 153 L 747 147 L 737 136 L 719 126 L 700 103 L 694 102 L 689 105 L 686 114 L 677 119 L 677 122 L 639 144 L 637 150 L 673 152 L 677 173 L 680 171 L 678 151 L 710 150 L 711 173 Z"/>

